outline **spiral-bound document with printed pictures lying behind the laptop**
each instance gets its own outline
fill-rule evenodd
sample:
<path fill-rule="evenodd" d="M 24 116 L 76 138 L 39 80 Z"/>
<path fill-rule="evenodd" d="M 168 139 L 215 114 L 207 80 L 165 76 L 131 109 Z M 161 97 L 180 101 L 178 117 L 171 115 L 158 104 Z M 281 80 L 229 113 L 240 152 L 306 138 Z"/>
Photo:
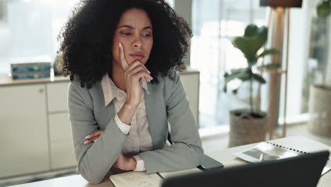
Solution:
<path fill-rule="evenodd" d="M 303 152 L 298 149 L 294 149 L 291 147 L 284 147 L 283 145 L 278 145 L 271 142 L 261 142 L 257 144 L 255 147 L 246 149 L 242 152 L 236 152 L 233 154 L 235 154 L 237 157 L 247 162 L 257 163 L 267 160 L 296 157 L 301 154 L 309 154 L 309 152 Z M 330 171 L 330 169 L 331 169 L 331 162 L 329 159 L 322 171 L 322 176 L 326 174 L 327 171 Z"/>

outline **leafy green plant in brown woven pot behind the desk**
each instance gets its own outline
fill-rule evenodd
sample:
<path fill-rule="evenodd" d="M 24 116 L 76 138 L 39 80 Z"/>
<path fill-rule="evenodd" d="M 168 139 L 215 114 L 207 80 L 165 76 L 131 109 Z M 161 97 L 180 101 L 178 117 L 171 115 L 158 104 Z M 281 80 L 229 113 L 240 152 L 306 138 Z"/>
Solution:
<path fill-rule="evenodd" d="M 257 60 L 266 55 L 277 53 L 277 50 L 269 49 L 260 52 L 267 42 L 267 28 L 265 26 L 257 27 L 253 24 L 245 28 L 243 36 L 236 37 L 232 40 L 234 47 L 238 48 L 247 60 L 247 67 L 240 69 L 231 69 L 231 72 L 224 74 L 225 85 L 223 91 L 227 91 L 227 85 L 234 79 L 240 79 L 243 82 L 249 81 L 249 103 L 250 108 L 237 109 L 230 111 L 230 140 L 229 147 L 238 145 L 250 144 L 253 142 L 261 142 L 265 140 L 267 113 L 257 111 L 253 104 L 253 82 L 265 84 L 265 79 L 258 73 L 255 73 L 254 67 L 257 65 Z M 268 64 L 263 68 L 278 69 L 278 63 Z M 240 86 L 239 86 L 240 87 Z M 238 88 L 239 88 L 238 87 Z M 238 88 L 233 89 L 236 94 Z"/>

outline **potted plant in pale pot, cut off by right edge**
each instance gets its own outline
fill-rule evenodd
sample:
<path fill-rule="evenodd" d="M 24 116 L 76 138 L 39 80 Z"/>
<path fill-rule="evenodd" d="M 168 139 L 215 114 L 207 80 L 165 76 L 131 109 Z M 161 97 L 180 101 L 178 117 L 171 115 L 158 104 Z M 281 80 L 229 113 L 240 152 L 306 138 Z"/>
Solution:
<path fill-rule="evenodd" d="M 318 6 L 316 6 L 316 12 L 318 18 L 315 18 L 315 31 L 318 31 L 318 33 L 329 33 L 331 0 L 320 1 Z M 327 37 L 327 35 L 324 36 Z M 323 50 L 325 56 L 323 56 L 324 58 L 317 56 L 315 57 L 315 61 L 318 62 L 317 69 L 323 76 L 322 80 L 318 83 L 316 83 L 315 80 L 310 81 L 311 84 L 309 87 L 308 99 L 308 113 L 310 119 L 308 122 L 308 130 L 315 135 L 331 137 L 331 85 L 330 82 L 328 84 L 327 72 L 325 72 L 326 69 L 330 68 L 325 66 L 325 64 L 330 65 L 330 61 L 327 60 L 330 59 L 330 57 L 328 57 L 330 54 L 327 50 L 330 46 L 327 42 L 327 38 L 322 38 L 320 40 L 325 42 L 319 43 L 319 48 L 317 50 Z M 310 77 L 314 77 L 314 74 Z"/>

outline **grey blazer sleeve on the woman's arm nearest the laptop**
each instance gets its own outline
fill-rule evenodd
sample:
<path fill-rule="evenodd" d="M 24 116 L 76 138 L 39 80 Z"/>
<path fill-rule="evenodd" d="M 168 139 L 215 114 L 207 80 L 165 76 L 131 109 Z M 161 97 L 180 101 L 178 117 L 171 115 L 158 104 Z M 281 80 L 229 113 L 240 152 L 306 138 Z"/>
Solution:
<path fill-rule="evenodd" d="M 147 174 L 194 168 L 201 164 L 204 154 L 197 123 L 180 76 L 175 70 L 170 76 L 173 79 L 164 78 L 164 93 L 171 139 L 174 144 L 164 149 L 139 154 L 144 159 Z"/>

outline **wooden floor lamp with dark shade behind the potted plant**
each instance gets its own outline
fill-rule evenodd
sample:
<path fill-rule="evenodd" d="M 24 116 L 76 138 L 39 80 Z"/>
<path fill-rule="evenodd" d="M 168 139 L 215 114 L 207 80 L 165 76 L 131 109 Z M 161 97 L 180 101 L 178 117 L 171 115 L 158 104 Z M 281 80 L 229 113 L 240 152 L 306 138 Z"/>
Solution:
<path fill-rule="evenodd" d="M 280 52 L 279 55 L 272 56 L 272 63 L 284 64 L 284 71 L 274 71 L 270 73 L 269 80 L 269 101 L 268 101 L 268 114 L 269 119 L 267 126 L 269 128 L 269 139 L 272 139 L 273 129 L 278 125 L 279 117 L 279 97 L 280 97 L 280 76 L 279 74 L 285 73 L 285 95 L 284 95 L 284 124 L 282 136 L 286 135 L 286 94 L 287 94 L 287 69 L 289 61 L 289 18 L 290 8 L 302 6 L 302 0 L 260 0 L 260 6 L 270 6 L 268 28 L 269 32 L 269 45 Z M 285 24 L 286 21 L 286 24 Z M 286 26 L 286 27 L 284 27 Z M 284 33 L 286 35 L 285 50 L 283 48 Z M 285 57 L 283 62 L 283 55 Z"/>

